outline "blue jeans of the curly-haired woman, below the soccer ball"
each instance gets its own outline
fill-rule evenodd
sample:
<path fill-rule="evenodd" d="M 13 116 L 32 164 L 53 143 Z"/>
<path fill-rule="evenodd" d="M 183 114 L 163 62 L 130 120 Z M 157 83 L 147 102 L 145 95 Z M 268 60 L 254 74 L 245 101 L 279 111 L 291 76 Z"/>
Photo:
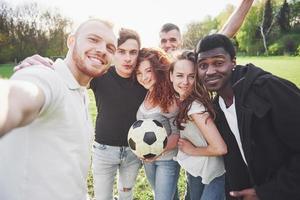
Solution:
<path fill-rule="evenodd" d="M 144 163 L 144 167 L 155 200 L 172 200 L 179 177 L 179 164 L 174 160 L 157 160 Z"/>

